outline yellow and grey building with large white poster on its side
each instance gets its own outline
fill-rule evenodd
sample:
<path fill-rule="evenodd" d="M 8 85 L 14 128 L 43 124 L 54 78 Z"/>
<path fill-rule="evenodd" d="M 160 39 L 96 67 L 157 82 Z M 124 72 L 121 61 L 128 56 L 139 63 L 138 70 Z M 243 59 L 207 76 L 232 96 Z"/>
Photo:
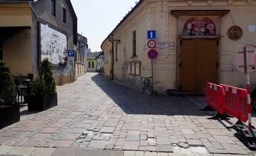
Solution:
<path fill-rule="evenodd" d="M 38 75 L 45 58 L 57 84 L 75 80 L 68 50 L 77 43 L 77 16 L 69 0 L 0 1 L 0 59 L 14 77 Z"/>

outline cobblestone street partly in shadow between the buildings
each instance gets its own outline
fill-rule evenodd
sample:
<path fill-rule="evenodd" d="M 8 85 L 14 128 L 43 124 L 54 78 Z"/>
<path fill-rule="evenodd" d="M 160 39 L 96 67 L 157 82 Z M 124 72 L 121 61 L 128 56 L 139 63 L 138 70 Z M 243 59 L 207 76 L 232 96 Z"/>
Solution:
<path fill-rule="evenodd" d="M 44 155 L 58 155 L 58 147 L 121 151 L 112 155 L 252 154 L 225 121 L 198 111 L 205 105 L 203 97 L 150 97 L 87 73 L 58 87 L 55 108 L 38 113 L 23 107 L 21 122 L 0 130 L 0 155 L 22 155 L 15 152 L 20 147 L 27 155 L 36 155 L 36 147 Z"/>

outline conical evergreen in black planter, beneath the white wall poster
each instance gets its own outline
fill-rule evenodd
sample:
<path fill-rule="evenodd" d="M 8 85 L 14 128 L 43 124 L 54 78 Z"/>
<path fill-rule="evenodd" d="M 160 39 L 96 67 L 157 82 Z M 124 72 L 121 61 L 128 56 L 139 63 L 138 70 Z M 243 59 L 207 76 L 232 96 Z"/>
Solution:
<path fill-rule="evenodd" d="M 28 95 L 28 111 L 46 111 L 48 108 L 57 106 L 55 79 L 47 58 L 41 63 L 39 77 L 32 82 L 30 92 L 30 95 Z"/>

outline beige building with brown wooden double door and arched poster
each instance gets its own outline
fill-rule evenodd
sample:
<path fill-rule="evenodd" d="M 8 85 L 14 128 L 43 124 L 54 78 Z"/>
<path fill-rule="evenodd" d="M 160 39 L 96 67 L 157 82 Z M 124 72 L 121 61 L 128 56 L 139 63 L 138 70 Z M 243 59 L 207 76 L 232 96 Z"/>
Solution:
<path fill-rule="evenodd" d="M 102 43 L 105 75 L 112 78 L 113 62 L 114 79 L 139 89 L 151 77 L 147 31 L 156 30 L 154 90 L 203 91 L 208 81 L 242 87 L 246 75 L 231 58 L 239 45 L 256 45 L 255 16 L 253 0 L 141 0 Z"/>

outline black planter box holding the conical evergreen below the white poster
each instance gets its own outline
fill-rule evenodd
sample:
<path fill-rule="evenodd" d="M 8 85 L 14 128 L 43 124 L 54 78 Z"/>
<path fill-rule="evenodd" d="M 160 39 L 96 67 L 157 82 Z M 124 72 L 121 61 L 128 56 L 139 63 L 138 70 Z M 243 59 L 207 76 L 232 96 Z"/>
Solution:
<path fill-rule="evenodd" d="M 57 105 L 57 93 L 43 97 L 28 96 L 28 111 L 46 111 Z"/>

